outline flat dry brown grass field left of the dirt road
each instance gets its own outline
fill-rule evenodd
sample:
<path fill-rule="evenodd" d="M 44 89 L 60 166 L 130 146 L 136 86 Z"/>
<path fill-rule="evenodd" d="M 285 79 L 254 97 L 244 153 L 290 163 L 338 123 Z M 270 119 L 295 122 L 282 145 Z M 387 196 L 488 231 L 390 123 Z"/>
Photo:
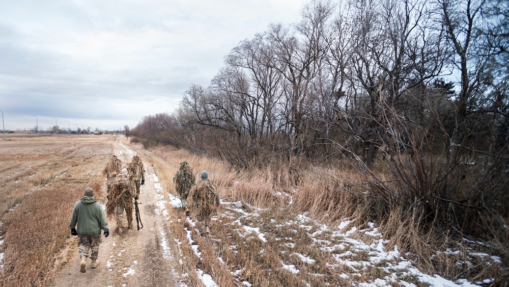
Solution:
<path fill-rule="evenodd" d="M 44 138 L 2 143 L 0 252 L 5 267 L 0 282 L 40 286 L 50 280 L 70 252 L 68 225 L 74 202 L 88 186 L 96 198 L 105 197 L 100 172 L 110 144 L 87 136 L 65 138 L 62 144 L 54 140 L 63 137 Z"/>

